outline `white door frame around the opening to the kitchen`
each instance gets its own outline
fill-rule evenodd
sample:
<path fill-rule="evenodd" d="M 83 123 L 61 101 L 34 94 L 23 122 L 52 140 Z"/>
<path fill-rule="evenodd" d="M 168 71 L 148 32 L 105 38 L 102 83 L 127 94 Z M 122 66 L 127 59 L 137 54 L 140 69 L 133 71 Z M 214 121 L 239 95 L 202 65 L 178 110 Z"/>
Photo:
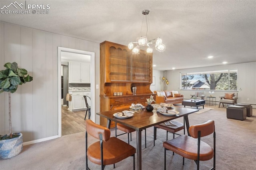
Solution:
<path fill-rule="evenodd" d="M 62 58 L 63 53 L 73 54 L 72 58 Z M 91 93 L 91 117 L 92 121 L 95 121 L 95 53 L 90 51 L 82 51 L 78 49 L 70 49 L 65 47 L 58 47 L 58 137 L 62 136 L 62 96 L 65 99 L 65 95 L 62 92 L 62 61 L 72 60 L 78 61 L 79 56 L 89 56 L 90 58 L 90 93 Z M 82 59 L 81 59 L 82 60 Z M 83 111 L 85 114 L 85 111 Z"/>

